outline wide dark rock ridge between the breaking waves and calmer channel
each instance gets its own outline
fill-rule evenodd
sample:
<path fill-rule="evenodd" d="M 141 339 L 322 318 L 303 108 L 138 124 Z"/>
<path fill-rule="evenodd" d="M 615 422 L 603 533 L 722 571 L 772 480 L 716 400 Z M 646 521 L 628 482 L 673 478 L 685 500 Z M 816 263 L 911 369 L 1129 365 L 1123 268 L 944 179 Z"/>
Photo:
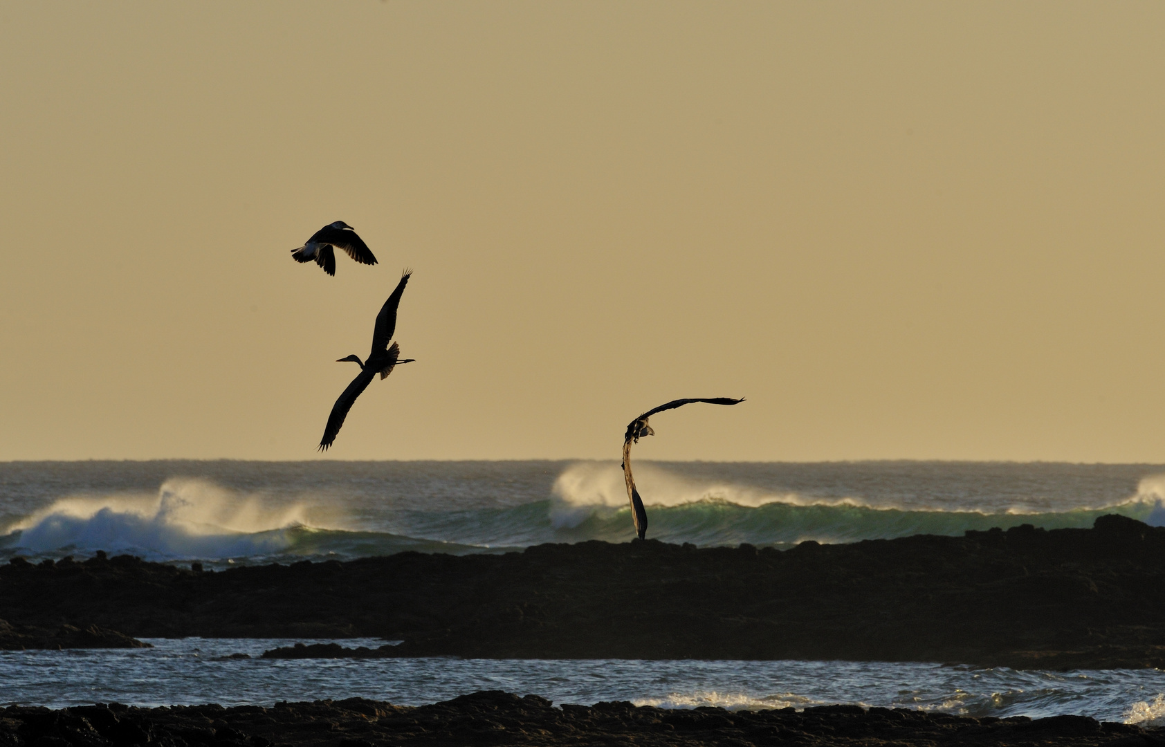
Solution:
<path fill-rule="evenodd" d="M 546 544 L 196 572 L 136 558 L 0 568 L 0 616 L 137 637 L 403 640 L 398 656 L 846 658 L 1165 668 L 1165 528 L 854 544 Z"/>

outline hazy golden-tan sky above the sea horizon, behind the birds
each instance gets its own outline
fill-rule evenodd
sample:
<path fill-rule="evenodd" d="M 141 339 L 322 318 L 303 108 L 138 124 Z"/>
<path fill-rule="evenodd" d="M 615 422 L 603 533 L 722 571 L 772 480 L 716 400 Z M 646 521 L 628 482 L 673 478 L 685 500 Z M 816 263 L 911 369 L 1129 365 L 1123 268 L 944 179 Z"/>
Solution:
<path fill-rule="evenodd" d="M 0 459 L 1165 459 L 1165 5 L 0 3 Z M 380 259 L 289 249 L 343 219 Z"/>

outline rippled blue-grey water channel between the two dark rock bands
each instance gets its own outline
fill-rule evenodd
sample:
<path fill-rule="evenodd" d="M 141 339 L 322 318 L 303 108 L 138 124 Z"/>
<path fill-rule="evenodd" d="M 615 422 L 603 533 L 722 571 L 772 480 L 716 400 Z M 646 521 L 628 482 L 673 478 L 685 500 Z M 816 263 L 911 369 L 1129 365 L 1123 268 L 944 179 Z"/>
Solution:
<path fill-rule="evenodd" d="M 228 660 L 289 640 L 149 639 L 151 649 L 0 653 L 0 704 L 51 707 L 363 697 L 400 705 L 476 690 L 535 693 L 556 704 L 733 710 L 849 703 L 968 716 L 1079 713 L 1155 723 L 1165 714 L 1159 670 L 1071 672 L 884 662 L 619 660 Z M 310 642 L 310 641 L 309 641 Z M 345 646 L 380 646 L 346 640 Z"/>

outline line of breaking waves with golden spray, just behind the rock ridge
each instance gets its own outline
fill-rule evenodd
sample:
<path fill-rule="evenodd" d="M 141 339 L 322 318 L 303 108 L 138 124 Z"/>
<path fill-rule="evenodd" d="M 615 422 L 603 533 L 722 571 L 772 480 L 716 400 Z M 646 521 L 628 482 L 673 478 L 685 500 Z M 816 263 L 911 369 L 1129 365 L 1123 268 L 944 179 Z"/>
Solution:
<path fill-rule="evenodd" d="M 648 536 L 698 545 L 791 547 L 892 538 L 915 534 L 961 535 L 968 529 L 1030 523 L 1046 529 L 1090 527 L 1097 516 L 1123 514 L 1165 526 L 1165 475 L 1141 480 L 1137 493 L 1110 505 L 1055 512 L 1007 506 L 995 512 L 873 506 L 856 496 L 805 496 L 729 482 L 692 480 L 650 463 L 642 475 Z M 518 506 L 461 510 L 394 509 L 355 521 L 343 502 L 276 500 L 223 488 L 209 480 L 172 478 L 155 495 L 66 496 L 13 522 L 0 535 L 0 557 L 127 552 L 150 559 L 273 562 L 353 558 L 404 550 L 481 552 L 543 542 L 634 536 L 622 471 L 610 463 L 563 470 L 550 496 Z"/>

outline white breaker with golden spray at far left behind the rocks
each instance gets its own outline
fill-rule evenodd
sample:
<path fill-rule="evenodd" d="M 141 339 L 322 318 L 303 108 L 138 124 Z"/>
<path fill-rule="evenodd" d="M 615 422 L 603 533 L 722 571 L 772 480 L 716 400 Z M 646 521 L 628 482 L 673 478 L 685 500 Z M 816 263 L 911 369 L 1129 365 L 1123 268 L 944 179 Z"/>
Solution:
<path fill-rule="evenodd" d="M 304 502 L 271 506 L 209 480 L 172 478 L 156 495 L 71 495 L 7 528 L 33 552 L 97 550 L 150 558 L 223 558 L 277 551 L 282 530 L 332 523 Z"/>

